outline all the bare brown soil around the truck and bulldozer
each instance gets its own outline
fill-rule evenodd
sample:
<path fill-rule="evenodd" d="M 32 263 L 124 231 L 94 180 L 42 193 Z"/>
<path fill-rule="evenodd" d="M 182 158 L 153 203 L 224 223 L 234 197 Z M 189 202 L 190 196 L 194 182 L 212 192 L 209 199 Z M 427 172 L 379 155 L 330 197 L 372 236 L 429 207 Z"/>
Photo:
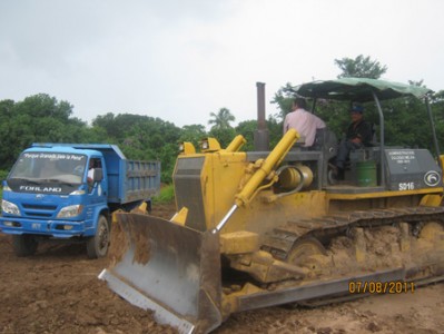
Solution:
<path fill-rule="evenodd" d="M 169 218 L 172 206 L 156 206 Z M 89 261 L 85 245 L 40 245 L 28 258 L 0 234 L 0 333 L 175 333 L 97 278 L 108 259 Z M 269 307 L 233 315 L 231 333 L 444 333 L 444 284 L 319 308 Z"/>

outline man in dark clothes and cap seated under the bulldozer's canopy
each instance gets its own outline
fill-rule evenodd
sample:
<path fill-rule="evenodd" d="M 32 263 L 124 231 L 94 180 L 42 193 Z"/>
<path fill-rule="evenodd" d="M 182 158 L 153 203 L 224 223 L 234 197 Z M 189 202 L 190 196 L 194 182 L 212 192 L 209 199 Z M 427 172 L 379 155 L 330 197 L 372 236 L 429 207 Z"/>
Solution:
<path fill-rule="evenodd" d="M 348 158 L 351 150 L 371 146 L 373 130 L 372 125 L 364 120 L 364 107 L 361 105 L 353 105 L 351 110 L 352 124 L 348 126 L 345 139 L 341 141 L 337 149 L 336 167 L 338 178 L 344 176 L 345 161 Z"/>

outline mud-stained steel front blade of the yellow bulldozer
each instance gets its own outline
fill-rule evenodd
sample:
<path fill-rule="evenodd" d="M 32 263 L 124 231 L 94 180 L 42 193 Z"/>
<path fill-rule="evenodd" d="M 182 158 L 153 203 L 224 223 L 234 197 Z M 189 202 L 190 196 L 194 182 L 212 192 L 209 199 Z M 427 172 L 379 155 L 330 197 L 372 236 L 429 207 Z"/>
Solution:
<path fill-rule="evenodd" d="M 99 278 L 180 333 L 221 323 L 219 236 L 154 216 L 121 213 L 112 226 L 110 266 Z"/>

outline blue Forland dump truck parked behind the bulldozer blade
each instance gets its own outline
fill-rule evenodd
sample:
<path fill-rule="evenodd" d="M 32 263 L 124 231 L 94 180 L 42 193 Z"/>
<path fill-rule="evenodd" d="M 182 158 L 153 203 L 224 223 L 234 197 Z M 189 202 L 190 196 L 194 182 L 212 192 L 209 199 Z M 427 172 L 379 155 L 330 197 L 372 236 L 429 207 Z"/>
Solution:
<path fill-rule="evenodd" d="M 115 145 L 33 144 L 3 181 L 0 232 L 14 253 L 45 239 L 86 242 L 88 257 L 108 252 L 111 214 L 129 212 L 160 188 L 160 163 L 128 160 Z"/>

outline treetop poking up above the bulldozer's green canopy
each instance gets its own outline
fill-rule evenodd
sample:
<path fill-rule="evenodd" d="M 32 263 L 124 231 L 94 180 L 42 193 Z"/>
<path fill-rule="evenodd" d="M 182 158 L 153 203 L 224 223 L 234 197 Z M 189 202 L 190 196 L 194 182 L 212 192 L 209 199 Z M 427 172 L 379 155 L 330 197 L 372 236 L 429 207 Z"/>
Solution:
<path fill-rule="evenodd" d="M 382 75 L 387 71 L 387 67 L 382 66 L 379 61 L 372 60 L 369 56 L 364 57 L 363 55 L 357 56 L 355 59 L 342 58 L 335 59 L 335 65 L 339 67 L 342 73 L 338 78 L 372 78 L 378 79 Z"/>

